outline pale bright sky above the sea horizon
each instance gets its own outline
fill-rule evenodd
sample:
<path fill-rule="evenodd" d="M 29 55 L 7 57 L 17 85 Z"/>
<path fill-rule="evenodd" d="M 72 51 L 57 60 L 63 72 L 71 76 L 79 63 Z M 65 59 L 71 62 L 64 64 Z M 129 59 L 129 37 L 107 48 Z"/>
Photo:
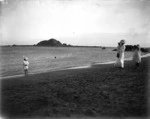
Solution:
<path fill-rule="evenodd" d="M 0 44 L 150 47 L 149 13 L 150 0 L 0 0 Z"/>

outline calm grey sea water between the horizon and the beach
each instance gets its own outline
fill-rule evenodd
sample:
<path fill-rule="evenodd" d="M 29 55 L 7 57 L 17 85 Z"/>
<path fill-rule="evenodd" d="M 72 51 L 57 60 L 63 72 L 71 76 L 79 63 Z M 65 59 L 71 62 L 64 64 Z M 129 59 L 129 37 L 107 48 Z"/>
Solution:
<path fill-rule="evenodd" d="M 29 60 L 29 73 L 39 73 L 66 67 L 85 66 L 116 60 L 114 48 L 90 47 L 0 47 L 0 77 L 21 75 L 23 56 Z M 131 57 L 132 52 L 125 52 Z M 56 58 L 55 58 L 56 57 Z"/>

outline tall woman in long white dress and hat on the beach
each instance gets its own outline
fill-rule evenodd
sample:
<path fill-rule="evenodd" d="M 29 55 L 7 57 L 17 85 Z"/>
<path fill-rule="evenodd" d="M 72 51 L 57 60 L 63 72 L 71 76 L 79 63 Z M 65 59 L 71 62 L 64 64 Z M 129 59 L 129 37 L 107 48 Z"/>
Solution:
<path fill-rule="evenodd" d="M 125 51 L 125 40 L 121 40 L 120 43 L 118 43 L 117 47 L 117 62 L 116 66 L 119 66 L 121 68 L 124 68 L 124 51 Z"/>

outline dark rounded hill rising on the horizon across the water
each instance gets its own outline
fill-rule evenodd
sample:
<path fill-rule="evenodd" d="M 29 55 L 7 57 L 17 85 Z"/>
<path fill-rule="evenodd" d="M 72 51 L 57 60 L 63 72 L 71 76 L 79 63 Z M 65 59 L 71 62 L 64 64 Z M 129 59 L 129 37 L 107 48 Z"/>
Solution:
<path fill-rule="evenodd" d="M 55 47 L 67 47 L 71 45 L 67 45 L 65 43 L 61 43 L 60 41 L 51 38 L 49 40 L 40 41 L 36 46 L 55 46 Z"/>

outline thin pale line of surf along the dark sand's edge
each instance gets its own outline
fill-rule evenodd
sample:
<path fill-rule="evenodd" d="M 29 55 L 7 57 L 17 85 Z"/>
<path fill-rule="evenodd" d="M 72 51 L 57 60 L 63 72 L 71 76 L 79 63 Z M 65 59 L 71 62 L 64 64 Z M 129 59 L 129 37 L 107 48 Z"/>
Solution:
<path fill-rule="evenodd" d="M 150 53 L 142 55 L 141 58 L 144 57 L 149 57 Z M 132 57 L 129 58 L 125 58 L 125 61 L 130 61 L 132 60 Z M 103 62 L 103 63 L 93 63 L 93 64 L 89 64 L 89 65 L 83 65 L 83 66 L 74 66 L 74 67 L 64 67 L 64 68 L 59 68 L 59 69 L 51 69 L 51 70 L 47 70 L 47 71 L 43 71 L 43 72 L 34 72 L 34 73 L 29 73 L 29 75 L 34 75 L 34 74 L 39 74 L 39 73 L 48 73 L 48 72 L 54 72 L 54 71 L 63 71 L 63 70 L 70 70 L 70 69 L 85 69 L 85 68 L 90 68 L 93 65 L 101 65 L 101 64 L 113 64 L 116 61 L 108 61 L 108 62 Z M 5 77 L 0 77 L 0 79 L 10 79 L 10 78 L 18 78 L 18 77 L 23 77 L 24 74 L 20 74 L 20 75 L 13 75 L 13 76 L 5 76 Z"/>

